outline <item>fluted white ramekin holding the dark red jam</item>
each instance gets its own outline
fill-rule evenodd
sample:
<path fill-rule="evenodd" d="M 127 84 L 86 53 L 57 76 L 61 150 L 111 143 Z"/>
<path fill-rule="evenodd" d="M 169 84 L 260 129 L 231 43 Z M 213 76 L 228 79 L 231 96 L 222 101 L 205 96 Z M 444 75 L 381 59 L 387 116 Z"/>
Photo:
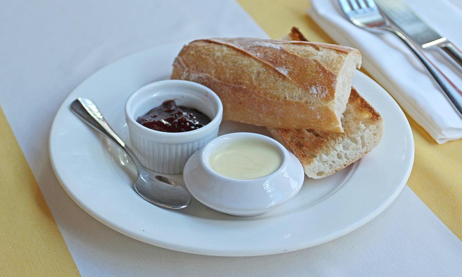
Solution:
<path fill-rule="evenodd" d="M 160 132 L 146 128 L 136 120 L 166 100 L 195 108 L 211 118 L 202 128 L 180 133 Z M 218 135 L 223 105 L 215 92 L 189 81 L 165 80 L 148 84 L 135 91 L 125 104 L 125 118 L 133 151 L 149 170 L 179 174 L 192 153 Z"/>

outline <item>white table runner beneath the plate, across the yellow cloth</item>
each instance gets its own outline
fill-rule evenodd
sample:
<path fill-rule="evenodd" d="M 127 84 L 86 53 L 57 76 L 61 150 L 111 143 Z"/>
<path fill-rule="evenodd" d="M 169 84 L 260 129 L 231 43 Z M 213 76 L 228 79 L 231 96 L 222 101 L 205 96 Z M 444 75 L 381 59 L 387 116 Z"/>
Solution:
<path fill-rule="evenodd" d="M 462 271 L 462 243 L 408 187 L 359 230 L 286 254 L 186 254 L 111 230 L 73 203 L 52 172 L 48 132 L 64 98 L 91 73 L 132 52 L 199 37 L 266 34 L 230 0 L 3 1 L 0 18 L 0 105 L 83 276 L 455 276 Z"/>

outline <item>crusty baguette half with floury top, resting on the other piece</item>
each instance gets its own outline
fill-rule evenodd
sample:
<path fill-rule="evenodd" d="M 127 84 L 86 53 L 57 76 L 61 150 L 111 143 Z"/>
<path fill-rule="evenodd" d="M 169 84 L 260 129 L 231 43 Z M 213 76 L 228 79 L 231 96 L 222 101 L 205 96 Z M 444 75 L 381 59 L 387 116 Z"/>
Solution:
<path fill-rule="evenodd" d="M 357 49 L 258 38 L 210 38 L 183 47 L 172 79 L 214 90 L 223 119 L 258 126 L 342 132 Z"/>

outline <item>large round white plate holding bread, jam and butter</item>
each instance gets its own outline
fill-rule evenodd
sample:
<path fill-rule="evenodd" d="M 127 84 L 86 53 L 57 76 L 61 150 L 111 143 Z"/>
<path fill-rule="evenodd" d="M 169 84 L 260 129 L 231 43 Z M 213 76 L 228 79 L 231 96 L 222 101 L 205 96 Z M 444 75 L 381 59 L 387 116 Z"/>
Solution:
<path fill-rule="evenodd" d="M 277 209 L 242 218 L 197 201 L 181 211 L 144 201 L 132 189 L 134 170 L 117 147 L 69 110 L 88 97 L 108 123 L 128 140 L 124 105 L 138 88 L 168 78 L 182 44 L 132 54 L 94 73 L 66 98 L 50 131 L 50 159 L 69 196 L 95 219 L 148 244 L 205 255 L 252 256 L 294 251 L 325 243 L 372 220 L 405 186 L 414 141 L 405 115 L 378 84 L 357 72 L 354 86 L 383 116 L 380 144 L 352 166 L 321 180 L 305 178 L 294 199 Z M 224 122 L 220 133 L 264 128 Z M 128 142 L 129 143 L 129 142 Z M 181 175 L 172 179 L 183 183 Z"/>

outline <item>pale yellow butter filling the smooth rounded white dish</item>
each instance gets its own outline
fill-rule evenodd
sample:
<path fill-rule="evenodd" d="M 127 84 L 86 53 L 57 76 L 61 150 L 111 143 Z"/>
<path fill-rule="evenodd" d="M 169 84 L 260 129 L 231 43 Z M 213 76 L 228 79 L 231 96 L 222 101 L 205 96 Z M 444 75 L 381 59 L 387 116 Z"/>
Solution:
<path fill-rule="evenodd" d="M 218 174 L 239 180 L 257 179 L 275 172 L 282 153 L 274 145 L 254 138 L 242 138 L 218 146 L 208 164 Z"/>

